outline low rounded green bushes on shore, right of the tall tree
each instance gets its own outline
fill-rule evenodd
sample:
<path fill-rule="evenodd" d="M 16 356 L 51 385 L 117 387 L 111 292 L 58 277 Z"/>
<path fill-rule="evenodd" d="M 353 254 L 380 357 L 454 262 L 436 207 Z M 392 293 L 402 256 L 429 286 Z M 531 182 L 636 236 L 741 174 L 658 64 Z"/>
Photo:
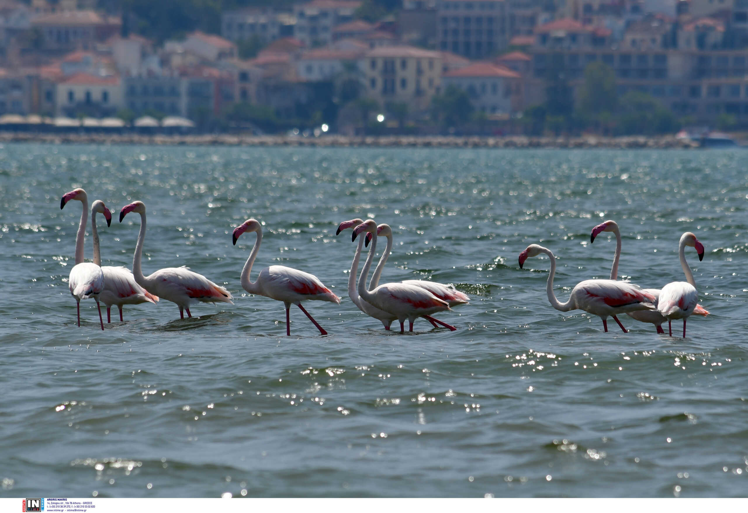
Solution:
<path fill-rule="evenodd" d="M 678 120 L 672 112 L 649 94 L 629 91 L 619 100 L 619 134 L 666 134 L 678 131 L 678 128 Z"/>

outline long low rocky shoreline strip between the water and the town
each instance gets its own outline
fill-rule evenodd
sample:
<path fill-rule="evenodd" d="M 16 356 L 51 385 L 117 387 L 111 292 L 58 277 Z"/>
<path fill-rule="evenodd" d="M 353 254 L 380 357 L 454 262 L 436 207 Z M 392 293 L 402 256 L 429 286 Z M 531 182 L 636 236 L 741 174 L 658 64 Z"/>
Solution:
<path fill-rule="evenodd" d="M 0 143 L 48 144 L 138 144 L 149 146 L 310 146 L 374 148 L 550 148 L 550 149 L 696 149 L 699 143 L 674 136 L 623 137 L 485 137 L 485 136 L 408 136 L 385 135 L 349 137 L 324 135 L 302 137 L 285 135 L 232 134 L 105 134 L 39 133 L 0 131 Z"/>

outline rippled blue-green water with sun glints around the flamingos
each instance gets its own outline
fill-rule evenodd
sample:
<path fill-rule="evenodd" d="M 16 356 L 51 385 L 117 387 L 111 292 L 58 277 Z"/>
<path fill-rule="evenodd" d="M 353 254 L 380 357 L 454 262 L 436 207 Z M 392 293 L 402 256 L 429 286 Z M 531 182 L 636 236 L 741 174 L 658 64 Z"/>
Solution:
<path fill-rule="evenodd" d="M 37 146 L 0 148 L 1 496 L 748 495 L 748 178 L 741 151 Z M 235 305 L 125 308 L 96 326 L 67 290 L 84 187 L 115 212 L 105 264 L 132 266 L 147 205 L 144 270 L 188 265 Z M 257 272 L 314 273 L 343 297 L 298 308 L 248 296 L 239 274 L 263 223 Z M 348 299 L 355 251 L 337 223 L 389 223 L 384 281 L 453 283 L 470 305 L 384 332 Z M 687 338 L 602 331 L 562 299 L 620 273 L 684 279 L 678 239 L 711 315 Z M 379 249 L 384 248 L 384 240 Z M 91 257 L 91 237 L 86 257 Z M 681 329 L 674 323 L 674 331 Z"/>

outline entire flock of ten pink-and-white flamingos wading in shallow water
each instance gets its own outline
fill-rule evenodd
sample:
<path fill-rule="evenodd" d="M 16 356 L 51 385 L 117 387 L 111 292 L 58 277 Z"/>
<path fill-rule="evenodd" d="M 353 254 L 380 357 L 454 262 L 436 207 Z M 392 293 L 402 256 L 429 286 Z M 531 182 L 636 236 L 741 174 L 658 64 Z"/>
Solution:
<path fill-rule="evenodd" d="M 145 276 L 141 267 L 143 246 L 146 234 L 146 208 L 143 202 L 132 202 L 120 211 L 120 223 L 124 217 L 133 212 L 140 214 L 141 226 L 138 242 L 135 244 L 135 254 L 132 258 L 132 272 L 126 267 L 110 267 L 101 265 L 99 249 L 99 235 L 96 231 L 96 214 L 102 214 L 107 226 L 111 225 L 111 212 L 104 202 L 96 200 L 91 205 L 91 234 L 93 236 L 93 262 L 84 261 L 84 238 L 88 223 L 88 196 L 85 190 L 77 188 L 62 196 L 60 208 L 64 208 L 70 200 L 82 202 L 81 220 L 76 234 L 76 265 L 70 270 L 70 294 L 76 298 L 78 326 L 81 325 L 81 299 L 94 299 L 99 311 L 99 323 L 104 329 L 101 305 L 106 306 L 107 322 L 111 323 L 111 307 L 117 305 L 120 321 L 123 321 L 123 305 L 137 305 L 139 303 L 156 303 L 159 299 L 174 302 L 180 309 L 180 317 L 184 319 L 184 312 L 192 317 L 190 305 L 196 302 L 227 302 L 233 305 L 233 296 L 220 285 L 211 282 L 205 276 L 194 273 L 188 267 L 166 267 L 159 269 L 149 276 Z M 400 332 L 405 332 L 405 320 L 408 329 L 413 331 L 413 323 L 423 317 L 438 328 L 455 331 L 456 327 L 436 319 L 433 315 L 444 311 L 451 311 L 452 307 L 468 304 L 470 298 L 465 293 L 456 290 L 452 285 L 444 285 L 423 280 L 405 280 L 403 282 L 385 283 L 379 285 L 379 279 L 384 271 L 387 258 L 393 246 L 393 235 L 390 226 L 377 225 L 374 220 L 354 219 L 340 223 L 336 235 L 346 229 L 352 229 L 352 241 L 358 238 L 358 246 L 351 264 L 348 281 L 348 295 L 351 301 L 370 317 L 379 320 L 384 329 L 389 330 L 397 320 Z M 322 284 L 316 276 L 280 265 L 272 265 L 261 270 L 254 282 L 251 280 L 252 266 L 260 244 L 263 240 L 263 230 L 260 223 L 248 219 L 233 230 L 233 244 L 245 232 L 254 231 L 257 234 L 254 247 L 242 269 L 242 288 L 248 293 L 266 296 L 283 302 L 286 307 L 286 335 L 291 335 L 290 307 L 297 305 L 309 320 L 319 329 L 321 335 L 327 335 L 325 329 L 317 323 L 311 314 L 301 305 L 307 300 L 329 301 L 340 304 L 340 297 Z M 548 255 L 551 261 L 551 272 L 548 274 L 546 291 L 548 301 L 560 311 L 580 309 L 589 314 L 598 315 L 603 321 L 604 331 L 607 332 L 607 318 L 613 317 L 623 332 L 627 332 L 619 314 L 628 314 L 634 320 L 652 323 L 657 333 L 664 333 L 662 324 L 667 320 L 669 335 L 672 336 L 672 320 L 683 320 L 683 336 L 686 336 L 686 320 L 692 314 L 708 315 L 708 311 L 698 304 L 698 293 L 693 273 L 685 258 L 686 246 L 696 249 L 699 261 L 704 257 L 704 246 L 693 233 L 686 232 L 681 236 L 678 246 L 681 267 L 686 276 L 686 282 L 672 282 L 662 289 L 642 289 L 637 285 L 619 281 L 618 266 L 621 256 L 621 233 L 615 221 L 605 221 L 592 228 L 590 241 L 603 231 L 613 232 L 616 236 L 616 254 L 613 258 L 613 268 L 610 279 L 589 279 L 578 283 L 566 302 L 560 302 L 554 293 L 554 276 L 556 273 L 556 258 L 550 249 L 537 244 L 530 244 L 519 255 L 519 267 L 523 268 L 527 258 L 541 254 Z M 359 235 L 362 235 L 359 237 Z M 373 276 L 367 285 L 369 273 L 374 261 L 378 237 L 387 238 L 387 247 L 381 253 Z M 364 246 L 369 246 L 364 267 L 358 276 L 358 264 Z"/>

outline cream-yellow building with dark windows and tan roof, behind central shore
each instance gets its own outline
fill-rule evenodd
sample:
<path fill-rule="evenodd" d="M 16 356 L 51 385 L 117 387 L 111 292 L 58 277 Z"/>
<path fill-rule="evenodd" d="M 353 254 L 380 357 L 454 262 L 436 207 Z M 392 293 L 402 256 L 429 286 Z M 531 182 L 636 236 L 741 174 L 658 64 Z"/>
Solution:
<path fill-rule="evenodd" d="M 381 46 L 358 60 L 366 96 L 405 102 L 412 111 L 429 107 L 441 81 L 441 53 L 414 46 Z"/>

